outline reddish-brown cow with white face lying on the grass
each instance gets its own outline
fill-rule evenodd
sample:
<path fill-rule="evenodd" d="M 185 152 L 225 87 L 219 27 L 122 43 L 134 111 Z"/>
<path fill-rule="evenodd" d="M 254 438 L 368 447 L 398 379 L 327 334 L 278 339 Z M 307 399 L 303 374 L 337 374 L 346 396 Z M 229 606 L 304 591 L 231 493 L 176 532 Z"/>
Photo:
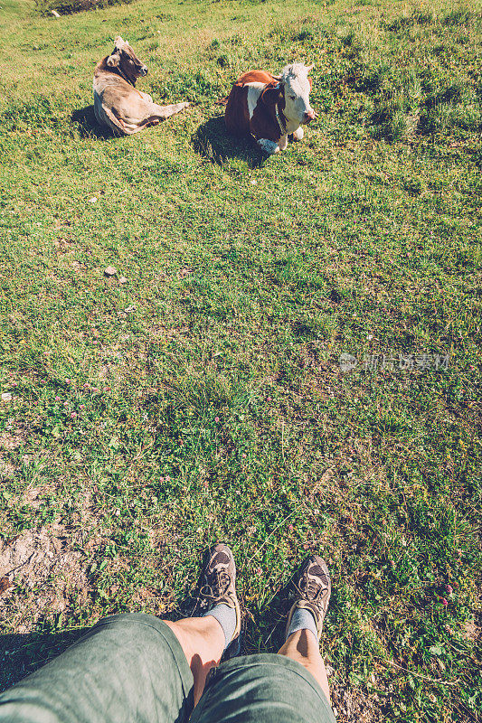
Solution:
<path fill-rule="evenodd" d="M 232 86 L 225 110 L 226 127 L 234 136 L 253 136 L 261 150 L 278 153 L 288 136 L 300 141 L 302 126 L 316 117 L 309 104 L 313 68 L 300 62 L 287 65 L 281 75 L 250 70 Z"/>

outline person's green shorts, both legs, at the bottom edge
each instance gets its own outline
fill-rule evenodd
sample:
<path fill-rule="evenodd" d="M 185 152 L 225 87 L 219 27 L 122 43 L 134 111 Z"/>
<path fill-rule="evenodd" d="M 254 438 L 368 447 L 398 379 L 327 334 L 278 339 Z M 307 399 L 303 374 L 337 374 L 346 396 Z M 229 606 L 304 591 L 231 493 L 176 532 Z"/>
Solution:
<path fill-rule="evenodd" d="M 212 671 L 193 712 L 193 674 L 168 625 L 112 615 L 0 695 L 5 723 L 335 723 L 313 676 L 283 655 Z"/>

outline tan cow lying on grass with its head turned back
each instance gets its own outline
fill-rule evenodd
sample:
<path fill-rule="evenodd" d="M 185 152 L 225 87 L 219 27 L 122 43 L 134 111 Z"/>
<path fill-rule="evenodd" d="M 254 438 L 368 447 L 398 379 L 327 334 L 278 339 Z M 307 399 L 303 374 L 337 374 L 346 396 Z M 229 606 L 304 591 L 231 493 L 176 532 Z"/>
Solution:
<path fill-rule="evenodd" d="M 147 74 L 146 66 L 128 42 L 121 37 L 114 42 L 112 53 L 94 71 L 94 112 L 100 124 L 109 126 L 114 133 L 130 136 L 189 105 L 159 106 L 147 93 L 137 90 L 137 78 Z"/>

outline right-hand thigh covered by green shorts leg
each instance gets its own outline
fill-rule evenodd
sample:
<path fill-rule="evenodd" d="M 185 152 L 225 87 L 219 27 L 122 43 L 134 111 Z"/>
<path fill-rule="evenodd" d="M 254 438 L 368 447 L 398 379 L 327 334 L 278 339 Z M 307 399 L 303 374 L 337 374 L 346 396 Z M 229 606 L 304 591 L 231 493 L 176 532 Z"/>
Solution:
<path fill-rule="evenodd" d="M 246 655 L 212 671 L 191 723 L 335 723 L 310 672 L 284 655 Z"/>

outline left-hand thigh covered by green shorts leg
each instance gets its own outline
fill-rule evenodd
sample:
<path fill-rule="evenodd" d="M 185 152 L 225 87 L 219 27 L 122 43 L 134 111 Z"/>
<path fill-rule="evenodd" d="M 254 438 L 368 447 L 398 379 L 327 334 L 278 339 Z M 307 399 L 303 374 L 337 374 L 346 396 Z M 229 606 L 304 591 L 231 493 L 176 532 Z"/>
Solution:
<path fill-rule="evenodd" d="M 2 723 L 181 723 L 193 674 L 152 615 L 112 615 L 0 695 Z"/>

